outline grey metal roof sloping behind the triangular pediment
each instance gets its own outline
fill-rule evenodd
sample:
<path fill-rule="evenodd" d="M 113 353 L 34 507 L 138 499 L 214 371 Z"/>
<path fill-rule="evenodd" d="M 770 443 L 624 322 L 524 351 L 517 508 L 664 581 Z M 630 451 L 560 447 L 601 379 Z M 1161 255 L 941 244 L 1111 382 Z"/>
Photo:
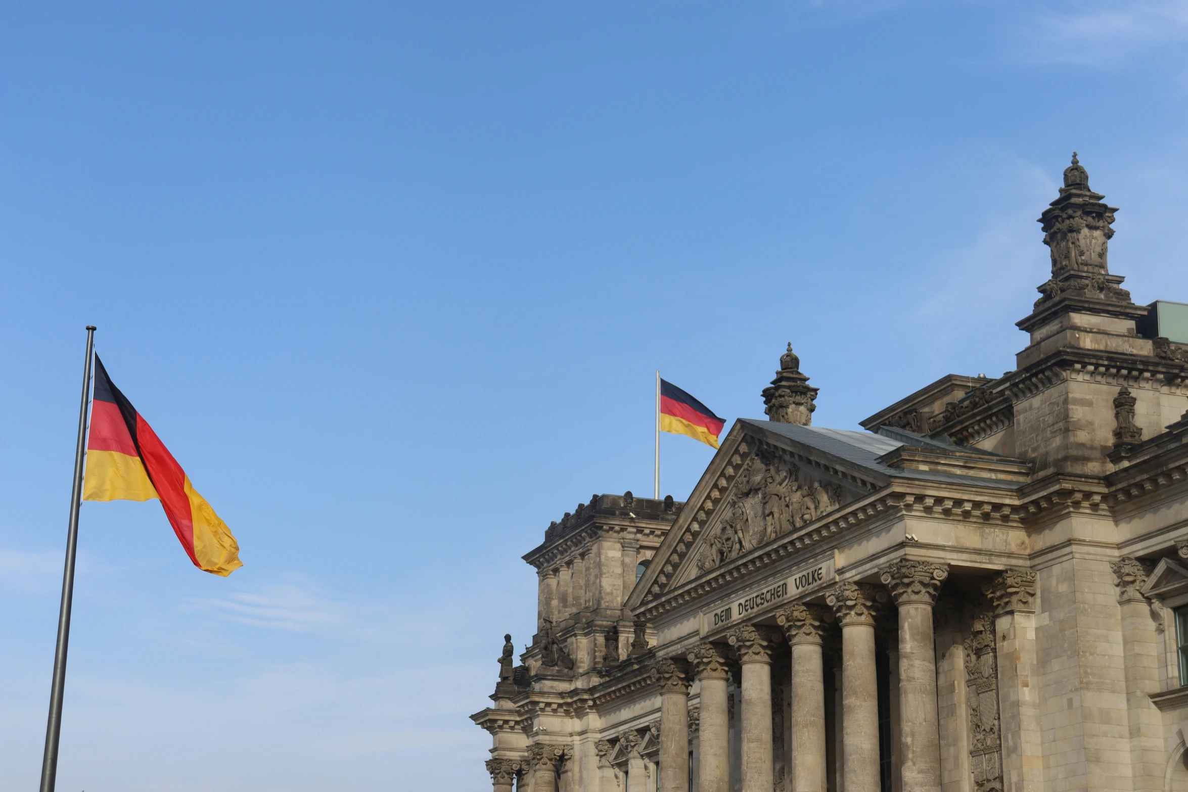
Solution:
<path fill-rule="evenodd" d="M 878 435 L 871 432 L 854 432 L 846 429 L 826 429 L 823 426 L 801 426 L 798 424 L 782 424 L 773 420 L 754 420 L 751 418 L 739 418 L 740 423 L 752 425 L 776 435 L 782 435 L 794 439 L 802 445 L 824 451 L 830 456 L 839 457 L 847 462 L 861 465 L 867 470 L 897 479 L 920 479 L 924 481 L 942 481 L 959 484 L 975 484 L 979 487 L 994 487 L 997 489 L 1018 489 L 1023 486 L 1018 481 L 1003 481 L 1000 479 L 986 479 L 982 476 L 962 476 L 955 473 L 943 473 L 940 470 L 912 470 L 910 468 L 892 468 L 879 457 L 887 451 L 893 451 L 903 445 L 918 448 L 935 448 L 944 451 L 961 451 L 963 454 L 979 454 L 987 456 L 1000 456 L 981 449 L 971 449 L 954 443 L 946 443 L 915 432 L 902 429 L 880 431 Z"/>

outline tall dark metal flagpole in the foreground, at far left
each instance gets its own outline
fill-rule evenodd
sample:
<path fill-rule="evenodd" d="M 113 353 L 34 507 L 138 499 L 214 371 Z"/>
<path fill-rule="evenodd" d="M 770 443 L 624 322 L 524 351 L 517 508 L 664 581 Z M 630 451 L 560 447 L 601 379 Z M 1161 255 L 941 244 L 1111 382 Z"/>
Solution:
<path fill-rule="evenodd" d="M 58 737 L 62 735 L 62 691 L 67 680 L 67 645 L 70 642 L 70 602 L 74 598 L 74 560 L 78 549 L 78 506 L 82 501 L 82 461 L 87 442 L 87 403 L 90 400 L 90 361 L 95 350 L 95 325 L 87 325 L 87 362 L 82 369 L 82 405 L 78 407 L 78 445 L 75 448 L 74 489 L 70 493 L 70 527 L 67 531 L 67 566 L 62 574 L 62 609 L 58 612 L 58 645 L 53 651 L 53 684 L 50 686 L 50 722 L 45 728 L 42 759 L 42 792 L 53 792 L 58 775 Z"/>

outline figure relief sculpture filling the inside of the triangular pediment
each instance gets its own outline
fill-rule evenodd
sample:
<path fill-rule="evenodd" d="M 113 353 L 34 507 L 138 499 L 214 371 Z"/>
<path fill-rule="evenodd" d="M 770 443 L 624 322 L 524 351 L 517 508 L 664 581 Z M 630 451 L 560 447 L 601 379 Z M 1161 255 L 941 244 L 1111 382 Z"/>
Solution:
<path fill-rule="evenodd" d="M 841 507 L 851 496 L 776 451 L 759 449 L 744 464 L 697 555 L 708 572 Z"/>

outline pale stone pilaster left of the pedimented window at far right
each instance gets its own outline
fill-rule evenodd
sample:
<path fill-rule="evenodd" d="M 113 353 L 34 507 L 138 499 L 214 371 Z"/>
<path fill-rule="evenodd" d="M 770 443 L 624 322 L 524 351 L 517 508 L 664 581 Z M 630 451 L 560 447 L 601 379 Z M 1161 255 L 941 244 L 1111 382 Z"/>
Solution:
<path fill-rule="evenodd" d="M 1123 557 L 1110 564 L 1121 608 L 1121 641 L 1126 651 L 1126 711 L 1130 717 L 1130 766 L 1136 790 L 1157 790 L 1163 784 L 1163 721 L 1150 693 L 1159 690 L 1159 636 L 1151 603 L 1143 587 L 1152 564 Z"/>

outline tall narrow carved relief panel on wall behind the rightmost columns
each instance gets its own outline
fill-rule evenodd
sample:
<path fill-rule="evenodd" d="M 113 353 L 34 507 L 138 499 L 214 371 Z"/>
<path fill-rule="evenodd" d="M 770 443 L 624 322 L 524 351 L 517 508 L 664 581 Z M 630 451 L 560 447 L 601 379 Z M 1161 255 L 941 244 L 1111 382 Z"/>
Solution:
<path fill-rule="evenodd" d="M 963 641 L 966 699 L 969 704 L 969 769 L 978 792 L 1001 792 L 1003 755 L 998 716 L 998 653 L 994 617 L 974 616 Z"/>

